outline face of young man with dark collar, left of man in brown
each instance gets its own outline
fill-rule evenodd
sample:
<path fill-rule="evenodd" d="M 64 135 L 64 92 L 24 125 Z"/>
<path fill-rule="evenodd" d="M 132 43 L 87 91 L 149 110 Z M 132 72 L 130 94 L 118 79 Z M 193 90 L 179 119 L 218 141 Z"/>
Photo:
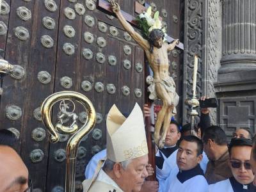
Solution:
<path fill-rule="evenodd" d="M 202 160 L 202 154 L 197 155 L 197 144 L 182 140 L 177 152 L 177 165 L 180 170 L 186 171 L 195 168 Z"/>

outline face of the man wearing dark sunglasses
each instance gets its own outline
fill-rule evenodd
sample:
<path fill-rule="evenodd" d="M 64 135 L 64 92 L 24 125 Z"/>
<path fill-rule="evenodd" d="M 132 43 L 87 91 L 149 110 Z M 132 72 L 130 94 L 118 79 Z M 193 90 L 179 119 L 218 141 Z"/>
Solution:
<path fill-rule="evenodd" d="M 230 169 L 237 180 L 241 184 L 250 184 L 254 175 L 250 168 L 250 154 L 252 147 L 237 146 L 232 147 L 230 152 Z"/>

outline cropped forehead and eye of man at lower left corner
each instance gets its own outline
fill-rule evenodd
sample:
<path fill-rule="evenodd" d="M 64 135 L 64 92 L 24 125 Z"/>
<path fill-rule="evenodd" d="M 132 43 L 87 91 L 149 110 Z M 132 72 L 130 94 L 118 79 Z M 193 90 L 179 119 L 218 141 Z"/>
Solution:
<path fill-rule="evenodd" d="M 0 146 L 0 191 L 24 192 L 28 189 L 28 169 L 10 147 Z"/>

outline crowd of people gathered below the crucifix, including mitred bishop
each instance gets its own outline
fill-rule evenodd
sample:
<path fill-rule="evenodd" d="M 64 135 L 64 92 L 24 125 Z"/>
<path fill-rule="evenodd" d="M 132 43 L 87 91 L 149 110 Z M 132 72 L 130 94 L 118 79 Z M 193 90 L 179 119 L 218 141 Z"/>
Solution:
<path fill-rule="evenodd" d="M 129 116 L 113 106 L 106 120 L 107 148 L 86 166 L 84 191 L 256 191 L 256 138 L 237 129 L 228 143 L 225 131 L 211 125 L 209 109 L 201 109 L 195 133 L 191 124 L 174 118 L 164 148 L 156 148 L 156 169 L 148 164 L 143 113 L 136 104 Z M 28 168 L 13 149 L 15 135 L 0 131 L 0 191 L 29 191 Z M 156 181 L 147 180 L 156 170 Z M 63 175 L 63 179 L 64 179 Z"/>

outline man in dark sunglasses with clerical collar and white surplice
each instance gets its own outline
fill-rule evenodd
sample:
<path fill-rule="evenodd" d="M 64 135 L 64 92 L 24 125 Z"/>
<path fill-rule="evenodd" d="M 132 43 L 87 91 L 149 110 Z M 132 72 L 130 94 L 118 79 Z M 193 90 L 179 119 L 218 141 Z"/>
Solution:
<path fill-rule="evenodd" d="M 251 150 L 252 140 L 233 138 L 228 148 L 229 165 L 233 176 L 210 185 L 210 191 L 256 191 L 256 187 L 252 184 L 254 175 L 250 165 Z"/>

